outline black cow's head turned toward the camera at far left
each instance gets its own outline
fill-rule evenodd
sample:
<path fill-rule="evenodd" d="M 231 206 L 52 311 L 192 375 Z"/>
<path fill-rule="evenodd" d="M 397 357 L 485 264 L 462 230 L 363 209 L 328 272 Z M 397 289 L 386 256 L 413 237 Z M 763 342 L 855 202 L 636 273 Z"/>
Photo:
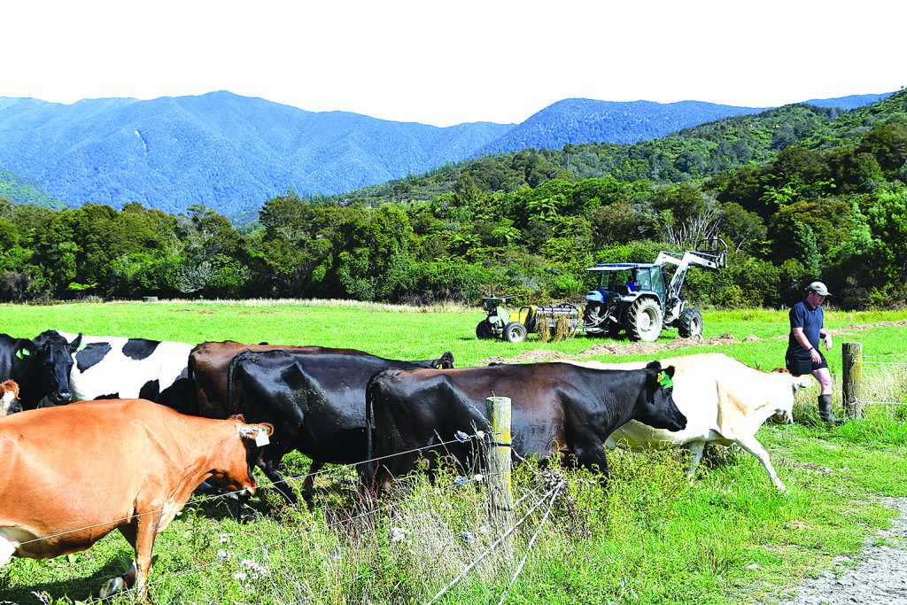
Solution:
<path fill-rule="evenodd" d="M 82 335 L 67 342 L 54 330 L 45 330 L 34 338 L 32 365 L 29 368 L 27 387 L 31 405 L 47 397 L 54 405 L 68 404 L 73 398 L 69 386 L 69 372 L 73 368 L 73 353 L 82 343 Z M 20 385 L 23 390 L 26 385 Z"/>

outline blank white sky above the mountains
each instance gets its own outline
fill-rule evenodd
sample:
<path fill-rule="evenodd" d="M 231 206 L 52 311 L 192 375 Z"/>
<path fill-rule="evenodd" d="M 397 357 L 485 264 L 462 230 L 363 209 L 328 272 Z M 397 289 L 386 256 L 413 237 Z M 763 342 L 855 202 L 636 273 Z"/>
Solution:
<path fill-rule="evenodd" d="M 570 97 L 767 107 L 900 90 L 905 21 L 901 0 L 12 0 L 0 96 L 227 90 L 438 126 Z"/>

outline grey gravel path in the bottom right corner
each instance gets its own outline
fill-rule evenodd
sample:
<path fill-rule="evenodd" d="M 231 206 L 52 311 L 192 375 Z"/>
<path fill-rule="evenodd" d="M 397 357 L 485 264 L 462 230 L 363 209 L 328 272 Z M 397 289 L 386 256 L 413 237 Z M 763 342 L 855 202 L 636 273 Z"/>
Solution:
<path fill-rule="evenodd" d="M 873 536 L 855 559 L 836 559 L 836 573 L 824 571 L 780 605 L 907 605 L 907 498 L 882 503 L 901 512 L 892 527 Z M 895 546 L 873 546 L 877 538 Z"/>

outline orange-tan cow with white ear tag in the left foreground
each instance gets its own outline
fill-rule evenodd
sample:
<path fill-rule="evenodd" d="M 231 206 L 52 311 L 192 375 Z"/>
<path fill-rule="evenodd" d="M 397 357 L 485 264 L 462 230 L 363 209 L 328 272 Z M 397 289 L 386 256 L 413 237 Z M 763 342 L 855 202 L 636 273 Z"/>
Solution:
<path fill-rule="evenodd" d="M 134 584 L 146 597 L 151 548 L 208 477 L 254 492 L 250 463 L 270 424 L 180 415 L 141 399 L 83 402 L 0 419 L 0 566 L 83 551 L 114 529 L 132 568 L 102 598 Z"/>

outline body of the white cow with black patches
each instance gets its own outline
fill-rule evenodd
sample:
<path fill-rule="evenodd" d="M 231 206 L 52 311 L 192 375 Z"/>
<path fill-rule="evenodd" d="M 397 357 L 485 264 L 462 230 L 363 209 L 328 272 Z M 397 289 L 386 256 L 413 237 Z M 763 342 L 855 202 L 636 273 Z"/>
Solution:
<path fill-rule="evenodd" d="M 148 399 L 188 413 L 191 350 L 189 343 L 167 340 L 82 337 L 69 377 L 72 400 Z"/>

